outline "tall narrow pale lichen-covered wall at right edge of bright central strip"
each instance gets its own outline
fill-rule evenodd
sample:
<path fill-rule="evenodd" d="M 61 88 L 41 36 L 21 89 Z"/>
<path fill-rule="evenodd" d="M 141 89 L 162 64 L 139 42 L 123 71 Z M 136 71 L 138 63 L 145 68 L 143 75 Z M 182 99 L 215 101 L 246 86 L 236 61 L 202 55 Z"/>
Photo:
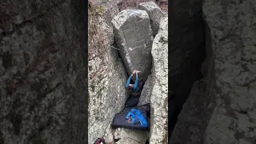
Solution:
<path fill-rule="evenodd" d="M 150 143 L 168 141 L 168 17 L 162 18 L 152 47 L 154 87 L 150 98 Z"/>

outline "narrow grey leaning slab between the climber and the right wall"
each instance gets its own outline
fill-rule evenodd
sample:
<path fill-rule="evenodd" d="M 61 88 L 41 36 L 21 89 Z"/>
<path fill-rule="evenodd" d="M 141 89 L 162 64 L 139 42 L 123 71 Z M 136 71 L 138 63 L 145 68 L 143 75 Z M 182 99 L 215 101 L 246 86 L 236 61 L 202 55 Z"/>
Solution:
<path fill-rule="evenodd" d="M 138 106 L 150 103 L 150 98 L 152 95 L 152 87 L 154 86 L 154 77 L 152 74 L 146 79 L 145 85 L 142 90 L 142 94 L 138 101 Z"/>

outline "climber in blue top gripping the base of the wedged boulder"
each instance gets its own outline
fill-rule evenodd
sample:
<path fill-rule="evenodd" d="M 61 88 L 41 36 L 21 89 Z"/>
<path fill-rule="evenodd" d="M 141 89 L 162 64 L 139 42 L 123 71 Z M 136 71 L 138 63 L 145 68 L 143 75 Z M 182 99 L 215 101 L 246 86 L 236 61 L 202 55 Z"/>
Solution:
<path fill-rule="evenodd" d="M 135 83 L 130 84 L 130 80 L 134 76 L 135 73 L 136 73 Z M 130 77 L 127 79 L 126 89 L 130 92 L 135 92 L 136 94 L 134 94 L 134 95 L 140 95 L 144 83 L 145 82 L 143 81 L 143 78 L 138 82 L 138 70 L 134 70 L 133 74 L 130 74 Z"/>

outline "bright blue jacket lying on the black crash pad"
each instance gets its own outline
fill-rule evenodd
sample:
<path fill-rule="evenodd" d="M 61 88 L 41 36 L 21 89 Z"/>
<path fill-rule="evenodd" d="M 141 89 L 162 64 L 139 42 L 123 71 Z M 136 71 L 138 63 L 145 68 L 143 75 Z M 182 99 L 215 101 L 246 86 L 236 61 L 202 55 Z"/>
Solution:
<path fill-rule="evenodd" d="M 147 127 L 146 118 L 142 115 L 140 110 L 131 109 L 130 112 L 126 115 L 126 119 L 131 117 L 131 123 L 136 124 L 141 122 L 142 127 Z"/>

